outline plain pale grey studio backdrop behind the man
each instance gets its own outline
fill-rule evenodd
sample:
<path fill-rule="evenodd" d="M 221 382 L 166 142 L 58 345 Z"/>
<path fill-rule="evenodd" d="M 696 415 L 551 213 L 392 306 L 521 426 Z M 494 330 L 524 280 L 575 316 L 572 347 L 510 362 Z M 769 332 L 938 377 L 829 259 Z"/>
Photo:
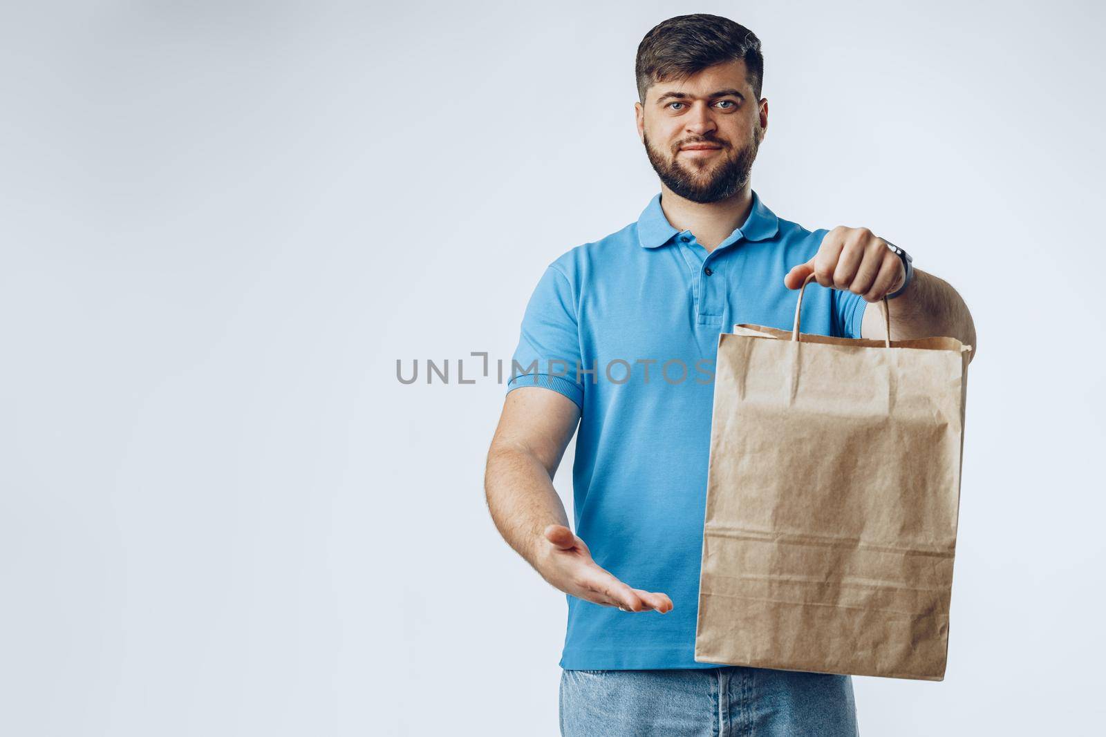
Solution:
<path fill-rule="evenodd" d="M 657 191 L 686 12 L 764 42 L 765 203 L 979 329 L 947 676 L 856 677 L 862 734 L 1100 728 L 1100 4 L 259 1 L 2 10 L 0 734 L 557 734 L 457 360 Z"/>

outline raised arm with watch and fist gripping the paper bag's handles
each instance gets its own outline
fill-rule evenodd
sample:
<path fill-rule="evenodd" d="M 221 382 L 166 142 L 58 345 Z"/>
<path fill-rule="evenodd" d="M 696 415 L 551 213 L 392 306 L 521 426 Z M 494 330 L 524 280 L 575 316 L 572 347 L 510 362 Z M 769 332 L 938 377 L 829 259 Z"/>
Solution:
<path fill-rule="evenodd" d="M 826 233 L 814 257 L 794 266 L 783 283 L 797 289 L 811 273 L 822 286 L 860 295 L 868 303 L 860 337 L 884 337 L 883 309 L 874 303 L 897 291 L 906 278 L 902 261 L 886 241 L 867 228 L 835 228 Z M 948 282 L 932 274 L 914 269 L 910 283 L 902 294 L 887 301 L 887 309 L 891 340 L 949 336 L 972 347 L 969 361 L 979 352 L 968 305 Z"/>

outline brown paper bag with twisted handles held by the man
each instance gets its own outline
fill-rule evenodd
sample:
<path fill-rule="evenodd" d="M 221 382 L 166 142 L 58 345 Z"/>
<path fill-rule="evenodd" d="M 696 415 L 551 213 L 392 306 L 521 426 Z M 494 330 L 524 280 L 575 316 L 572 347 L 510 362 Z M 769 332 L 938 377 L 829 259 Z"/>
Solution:
<path fill-rule="evenodd" d="M 800 335 L 806 283 L 719 336 L 695 659 L 941 681 L 971 346 Z"/>

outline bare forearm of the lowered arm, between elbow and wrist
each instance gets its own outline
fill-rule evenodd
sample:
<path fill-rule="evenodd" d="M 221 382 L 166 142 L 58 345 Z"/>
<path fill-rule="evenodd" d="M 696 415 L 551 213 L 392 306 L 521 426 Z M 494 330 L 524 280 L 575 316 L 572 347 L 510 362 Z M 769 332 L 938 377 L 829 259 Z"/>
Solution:
<path fill-rule="evenodd" d="M 541 573 L 539 551 L 549 525 L 570 527 L 564 504 L 550 472 L 520 448 L 493 448 L 488 453 L 484 495 L 500 535 Z"/>

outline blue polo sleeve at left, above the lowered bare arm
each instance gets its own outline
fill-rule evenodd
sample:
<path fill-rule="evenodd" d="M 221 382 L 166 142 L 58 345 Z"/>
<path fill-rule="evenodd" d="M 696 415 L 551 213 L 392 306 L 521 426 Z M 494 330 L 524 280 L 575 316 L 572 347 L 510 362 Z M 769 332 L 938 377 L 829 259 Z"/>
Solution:
<path fill-rule="evenodd" d="M 507 390 L 545 387 L 576 402 L 583 411 L 576 296 L 564 272 L 550 265 L 530 296 L 519 347 L 511 360 Z"/>

